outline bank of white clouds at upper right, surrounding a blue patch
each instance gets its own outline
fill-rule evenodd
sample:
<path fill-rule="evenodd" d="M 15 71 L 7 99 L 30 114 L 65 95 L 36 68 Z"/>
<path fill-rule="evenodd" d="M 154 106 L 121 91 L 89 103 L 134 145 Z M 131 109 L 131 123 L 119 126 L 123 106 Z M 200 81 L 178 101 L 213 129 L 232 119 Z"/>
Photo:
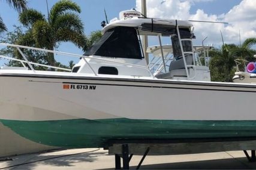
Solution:
<path fill-rule="evenodd" d="M 198 9 L 195 14 L 190 13 L 191 5 L 195 2 L 209 2 L 215 0 L 147 0 L 147 17 L 178 19 L 178 20 L 203 20 L 203 21 L 227 21 L 229 24 L 196 23 L 195 44 L 201 44 L 204 37 L 208 36 L 204 44 L 214 44 L 216 47 L 222 44 L 221 33 L 225 43 L 239 44 L 239 30 L 241 40 L 256 38 L 256 1 L 243 0 L 234 6 L 228 13 L 216 15 L 207 14 Z M 161 3 L 162 2 L 162 3 Z M 224 4 L 225 5 L 225 4 Z M 141 0 L 136 1 L 137 10 L 141 9 Z M 214 13 L 214 11 L 213 11 Z"/>

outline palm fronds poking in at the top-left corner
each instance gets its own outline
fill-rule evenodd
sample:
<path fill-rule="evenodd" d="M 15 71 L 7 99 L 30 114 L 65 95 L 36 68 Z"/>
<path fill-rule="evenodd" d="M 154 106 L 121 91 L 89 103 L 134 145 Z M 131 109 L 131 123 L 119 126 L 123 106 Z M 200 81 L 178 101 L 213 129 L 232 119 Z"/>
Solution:
<path fill-rule="evenodd" d="M 22 11 L 26 9 L 27 0 L 5 0 L 11 7 L 13 7 L 17 11 Z M 0 16 L 0 33 L 7 31 L 7 27 L 5 26 L 2 18 Z"/>

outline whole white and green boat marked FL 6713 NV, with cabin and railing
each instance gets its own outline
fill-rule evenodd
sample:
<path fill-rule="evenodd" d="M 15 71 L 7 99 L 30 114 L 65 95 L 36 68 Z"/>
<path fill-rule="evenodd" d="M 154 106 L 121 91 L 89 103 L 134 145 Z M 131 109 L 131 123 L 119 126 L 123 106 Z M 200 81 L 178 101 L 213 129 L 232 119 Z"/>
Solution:
<path fill-rule="evenodd" d="M 107 147 L 112 140 L 256 137 L 255 85 L 207 81 L 209 69 L 195 60 L 189 21 L 145 18 L 137 11 L 120 16 L 83 55 L 1 44 L 17 48 L 23 60 L 1 57 L 24 67 L 0 70 L 0 121 L 29 140 L 65 148 Z M 145 35 L 160 44 L 161 72 L 147 66 Z M 165 41 L 174 58 L 168 67 Z M 80 60 L 67 72 L 35 70 L 38 64 L 27 60 L 23 48 Z"/>

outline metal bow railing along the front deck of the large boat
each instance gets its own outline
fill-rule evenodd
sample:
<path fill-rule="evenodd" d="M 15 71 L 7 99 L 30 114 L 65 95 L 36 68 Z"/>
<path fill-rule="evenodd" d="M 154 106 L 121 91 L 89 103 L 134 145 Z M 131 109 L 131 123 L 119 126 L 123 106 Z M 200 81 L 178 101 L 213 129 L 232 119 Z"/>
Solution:
<path fill-rule="evenodd" d="M 103 59 L 103 58 L 89 57 L 89 56 L 85 56 L 85 55 L 72 54 L 72 53 L 68 53 L 68 52 L 46 50 L 46 49 L 35 48 L 35 47 L 26 47 L 26 46 L 23 46 L 23 45 L 5 44 L 5 43 L 0 43 L 0 45 L 1 45 L 1 46 L 5 46 L 5 47 L 14 47 L 14 48 L 17 48 L 17 50 L 18 50 L 19 53 L 22 55 L 22 57 L 23 57 L 24 60 L 19 60 L 19 59 L 17 59 L 17 58 L 12 58 L 12 57 L 5 57 L 5 56 L 3 56 L 3 55 L 0 55 L 0 57 L 6 58 L 6 59 L 8 59 L 8 60 L 19 61 L 20 63 L 22 63 L 22 66 L 23 66 L 23 67 L 26 67 L 26 66 L 25 66 L 25 63 L 27 63 L 28 66 L 29 66 L 29 69 L 31 69 L 33 72 L 36 72 L 36 71 L 35 71 L 34 67 L 32 67 L 32 65 L 43 66 L 43 67 L 49 67 L 49 68 L 52 68 L 52 69 L 65 70 L 65 71 L 68 71 L 68 72 L 70 72 L 71 69 L 65 69 L 65 68 L 62 68 L 62 67 L 49 66 L 49 65 L 46 65 L 46 64 L 33 63 L 33 62 L 31 62 L 31 61 L 28 61 L 28 58 L 27 58 L 26 55 L 22 52 L 22 50 L 20 50 L 20 48 L 24 48 L 24 49 L 28 49 L 28 50 L 43 51 L 43 52 L 51 52 L 51 53 L 53 53 L 53 54 L 61 54 L 61 55 L 69 56 L 69 57 L 82 58 L 82 59 L 86 62 L 86 64 L 88 64 L 89 68 L 91 69 L 91 71 L 94 73 L 95 76 L 98 76 L 97 72 L 95 72 L 95 70 L 92 68 L 92 66 L 89 64 L 88 60 L 86 60 L 86 59 L 98 60 L 98 61 L 105 61 L 105 62 L 108 62 L 108 63 L 121 64 L 121 65 L 124 65 L 124 66 L 127 66 L 127 67 L 131 67 L 131 66 L 132 66 L 132 67 L 138 67 L 138 68 L 147 70 L 147 72 L 149 72 L 149 75 L 150 75 L 152 78 L 154 77 L 153 74 L 150 72 L 149 68 L 146 67 L 146 66 L 139 66 L 139 65 L 130 64 L 130 63 L 122 63 L 122 62 L 119 62 L 119 61 L 111 61 L 111 60 L 106 60 L 106 59 Z"/>

